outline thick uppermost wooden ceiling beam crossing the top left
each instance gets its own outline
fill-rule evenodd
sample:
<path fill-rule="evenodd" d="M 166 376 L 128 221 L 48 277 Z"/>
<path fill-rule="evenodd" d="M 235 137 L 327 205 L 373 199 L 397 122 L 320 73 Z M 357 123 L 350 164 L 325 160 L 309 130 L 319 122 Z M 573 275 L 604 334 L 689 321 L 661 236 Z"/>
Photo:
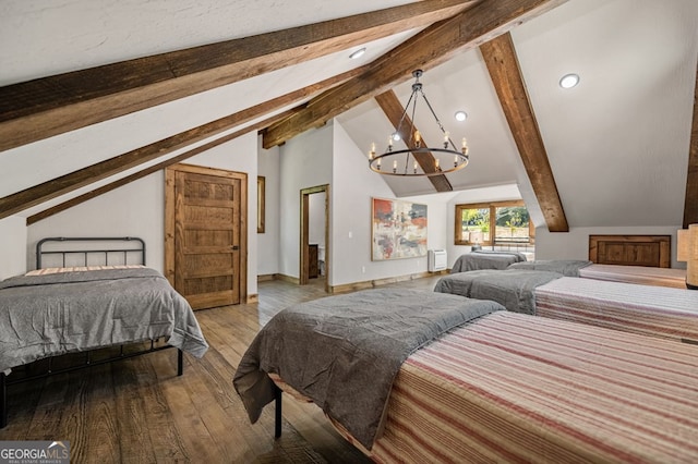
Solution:
<path fill-rule="evenodd" d="M 0 151 L 396 33 L 481 0 L 423 0 L 0 87 Z"/>

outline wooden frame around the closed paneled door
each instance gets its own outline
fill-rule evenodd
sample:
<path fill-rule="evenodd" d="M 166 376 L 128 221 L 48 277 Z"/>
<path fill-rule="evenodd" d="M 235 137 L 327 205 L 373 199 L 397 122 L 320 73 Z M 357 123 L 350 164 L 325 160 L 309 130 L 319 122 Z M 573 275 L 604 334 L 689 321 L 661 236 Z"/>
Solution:
<path fill-rule="evenodd" d="M 248 174 L 224 169 L 178 163 L 165 169 L 165 277 L 174 286 L 174 211 L 177 171 L 240 180 L 240 303 L 248 301 Z"/>

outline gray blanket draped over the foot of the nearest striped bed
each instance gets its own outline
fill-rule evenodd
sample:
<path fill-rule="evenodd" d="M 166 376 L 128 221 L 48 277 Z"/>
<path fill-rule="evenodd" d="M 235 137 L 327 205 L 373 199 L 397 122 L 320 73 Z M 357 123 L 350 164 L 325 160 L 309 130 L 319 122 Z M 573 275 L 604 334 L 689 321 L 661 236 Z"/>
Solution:
<path fill-rule="evenodd" d="M 277 374 L 371 449 L 402 362 L 435 337 L 504 309 L 433 292 L 378 289 L 328 296 L 278 313 L 233 377 L 255 423 L 274 400 Z"/>

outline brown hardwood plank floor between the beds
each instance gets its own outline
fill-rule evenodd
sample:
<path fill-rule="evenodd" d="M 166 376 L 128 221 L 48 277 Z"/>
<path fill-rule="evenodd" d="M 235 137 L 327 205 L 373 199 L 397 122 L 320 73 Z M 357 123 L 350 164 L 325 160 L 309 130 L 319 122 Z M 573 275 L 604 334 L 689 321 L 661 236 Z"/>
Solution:
<path fill-rule="evenodd" d="M 390 284 L 432 290 L 438 276 Z M 258 303 L 196 313 L 210 349 L 202 359 L 166 350 L 8 388 L 4 440 L 65 440 L 71 463 L 363 463 L 320 408 L 285 395 L 251 425 L 232 376 L 260 328 L 278 310 L 327 294 L 310 285 L 260 282 Z"/>

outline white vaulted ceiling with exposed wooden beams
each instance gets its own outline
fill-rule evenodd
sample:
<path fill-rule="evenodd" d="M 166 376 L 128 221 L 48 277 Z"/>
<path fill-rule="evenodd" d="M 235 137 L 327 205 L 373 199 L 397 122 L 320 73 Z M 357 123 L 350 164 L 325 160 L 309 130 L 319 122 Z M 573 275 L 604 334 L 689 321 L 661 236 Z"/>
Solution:
<path fill-rule="evenodd" d="M 0 26 L 0 219 L 251 131 L 270 147 L 337 118 L 368 148 L 423 69 L 471 163 L 396 195 L 517 183 L 551 231 L 698 222 L 694 0 L 5 0 Z"/>

